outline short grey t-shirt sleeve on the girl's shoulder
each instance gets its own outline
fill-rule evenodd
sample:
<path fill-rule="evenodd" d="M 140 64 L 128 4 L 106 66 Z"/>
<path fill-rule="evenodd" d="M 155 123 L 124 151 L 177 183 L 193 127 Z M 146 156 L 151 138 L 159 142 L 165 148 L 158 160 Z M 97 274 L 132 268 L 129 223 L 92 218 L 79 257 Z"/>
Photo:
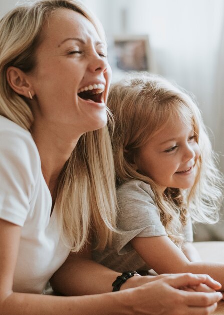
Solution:
<path fill-rule="evenodd" d="M 122 231 L 116 241 L 119 254 L 133 250 L 129 241 L 135 237 L 167 235 L 148 184 L 137 180 L 125 182 L 118 189 L 117 196 L 120 209 L 118 228 Z"/>

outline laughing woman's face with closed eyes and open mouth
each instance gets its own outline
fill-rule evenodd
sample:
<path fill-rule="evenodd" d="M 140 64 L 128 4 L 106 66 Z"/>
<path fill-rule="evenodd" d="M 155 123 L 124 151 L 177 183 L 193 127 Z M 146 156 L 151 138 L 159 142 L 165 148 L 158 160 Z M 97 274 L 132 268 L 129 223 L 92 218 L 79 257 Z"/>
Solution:
<path fill-rule="evenodd" d="M 105 126 L 111 78 L 107 48 L 92 23 L 60 9 L 45 23 L 32 81 L 34 116 L 80 134 Z"/>

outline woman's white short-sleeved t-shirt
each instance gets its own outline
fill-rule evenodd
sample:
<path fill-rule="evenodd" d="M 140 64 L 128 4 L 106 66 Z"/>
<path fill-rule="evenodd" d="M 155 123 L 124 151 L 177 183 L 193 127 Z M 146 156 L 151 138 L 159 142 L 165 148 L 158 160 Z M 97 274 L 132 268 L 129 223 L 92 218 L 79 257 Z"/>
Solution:
<path fill-rule="evenodd" d="M 56 206 L 52 215 L 51 207 L 30 132 L 0 116 L 0 218 L 22 226 L 15 292 L 42 293 L 69 255 L 60 239 Z"/>

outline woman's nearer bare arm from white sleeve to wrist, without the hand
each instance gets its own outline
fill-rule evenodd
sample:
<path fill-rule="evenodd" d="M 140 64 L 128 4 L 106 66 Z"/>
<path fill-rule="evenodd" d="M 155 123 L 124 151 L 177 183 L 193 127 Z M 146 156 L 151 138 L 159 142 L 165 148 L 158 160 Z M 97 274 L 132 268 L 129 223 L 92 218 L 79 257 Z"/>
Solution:
<path fill-rule="evenodd" d="M 1 314 L 70 315 L 75 313 L 84 315 L 90 312 L 95 314 L 110 314 L 115 313 L 111 311 L 113 307 L 115 307 L 114 309 L 118 311 L 116 305 L 112 305 L 112 302 L 114 303 L 116 301 L 116 295 L 113 295 L 113 298 L 111 298 L 110 295 L 106 294 L 82 297 L 62 297 L 13 292 L 13 276 L 19 250 L 20 235 L 20 226 L 0 219 Z M 78 286 L 77 283 L 75 285 Z M 119 298 L 119 296 L 117 297 L 117 304 L 121 307 L 122 299 Z M 125 298 L 125 293 L 123 294 L 123 296 Z"/>

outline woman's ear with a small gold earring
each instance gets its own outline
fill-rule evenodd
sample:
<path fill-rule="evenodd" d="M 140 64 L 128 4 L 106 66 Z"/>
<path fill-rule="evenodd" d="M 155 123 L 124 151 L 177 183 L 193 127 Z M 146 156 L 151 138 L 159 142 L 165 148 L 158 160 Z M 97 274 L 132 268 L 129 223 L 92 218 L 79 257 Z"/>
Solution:
<path fill-rule="evenodd" d="M 32 85 L 26 73 L 21 69 L 10 66 L 7 69 L 7 81 L 10 87 L 18 94 L 30 98 L 30 95 L 34 95 Z"/>

